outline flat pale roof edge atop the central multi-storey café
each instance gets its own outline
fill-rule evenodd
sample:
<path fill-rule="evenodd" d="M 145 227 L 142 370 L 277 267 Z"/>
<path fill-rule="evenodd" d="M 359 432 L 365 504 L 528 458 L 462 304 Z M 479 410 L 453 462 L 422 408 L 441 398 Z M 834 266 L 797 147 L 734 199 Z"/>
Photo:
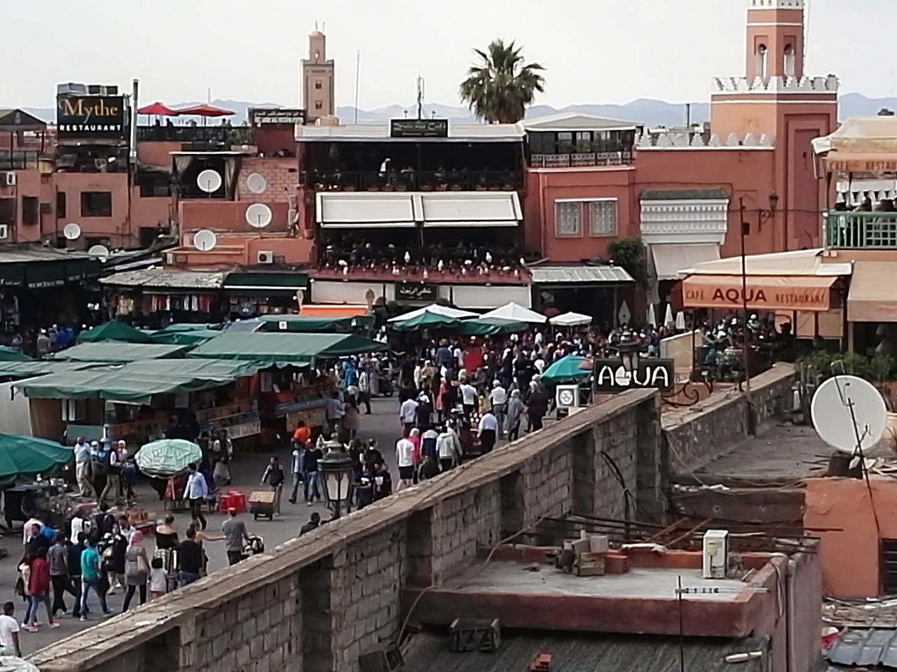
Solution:
<path fill-rule="evenodd" d="M 521 124 L 452 124 L 447 138 L 393 138 L 389 122 L 340 126 L 296 125 L 296 142 L 523 142 Z"/>

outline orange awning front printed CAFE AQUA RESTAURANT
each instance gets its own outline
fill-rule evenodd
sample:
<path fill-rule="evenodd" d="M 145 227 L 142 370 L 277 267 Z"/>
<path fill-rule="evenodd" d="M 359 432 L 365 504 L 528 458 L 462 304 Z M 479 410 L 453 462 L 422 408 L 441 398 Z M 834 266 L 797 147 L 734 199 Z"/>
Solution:
<path fill-rule="evenodd" d="M 682 282 L 686 308 L 752 310 L 828 310 L 836 276 L 748 275 L 745 293 L 740 275 L 692 275 Z"/>

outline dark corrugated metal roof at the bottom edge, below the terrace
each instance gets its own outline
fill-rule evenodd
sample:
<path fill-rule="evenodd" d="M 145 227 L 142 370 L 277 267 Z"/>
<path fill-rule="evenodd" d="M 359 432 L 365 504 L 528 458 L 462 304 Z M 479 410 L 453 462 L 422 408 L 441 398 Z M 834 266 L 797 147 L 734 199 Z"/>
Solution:
<path fill-rule="evenodd" d="M 768 651 L 765 638 L 719 640 L 710 637 L 686 638 L 686 670 L 732 672 L 725 658 L 731 653 Z M 509 672 L 527 670 L 540 653 L 552 656 L 552 669 L 563 672 L 679 672 L 677 637 L 611 635 L 597 633 L 518 634 L 502 631 L 501 646 L 494 653 L 453 653 L 445 636 L 419 634 L 409 643 L 405 672 Z M 736 666 L 738 672 L 768 669 L 763 659 Z"/>

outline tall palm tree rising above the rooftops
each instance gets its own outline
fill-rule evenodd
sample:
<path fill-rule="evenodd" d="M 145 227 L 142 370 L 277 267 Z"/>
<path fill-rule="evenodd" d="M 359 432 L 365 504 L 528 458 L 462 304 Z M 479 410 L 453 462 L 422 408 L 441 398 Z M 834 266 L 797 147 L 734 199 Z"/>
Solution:
<path fill-rule="evenodd" d="M 461 82 L 461 99 L 488 124 L 516 124 L 523 118 L 545 80 L 537 63 L 524 65 L 523 47 L 495 39 L 486 51 L 474 49 L 480 63 L 467 71 Z"/>

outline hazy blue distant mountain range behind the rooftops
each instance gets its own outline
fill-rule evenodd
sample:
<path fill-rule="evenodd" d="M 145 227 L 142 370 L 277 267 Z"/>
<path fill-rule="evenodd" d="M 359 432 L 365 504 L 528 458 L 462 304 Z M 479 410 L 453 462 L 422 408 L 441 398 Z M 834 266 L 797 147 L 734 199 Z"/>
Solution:
<path fill-rule="evenodd" d="M 145 101 L 149 102 L 149 101 Z M 172 105 L 173 108 L 187 107 L 196 104 L 196 101 Z M 249 103 L 244 100 L 213 100 L 212 104 L 219 108 L 231 109 L 236 112 L 238 120 L 247 118 L 248 108 L 278 108 L 283 107 L 276 103 Z M 440 119 L 449 119 L 456 123 L 473 123 L 474 116 L 466 107 L 440 105 L 431 103 L 424 105 L 427 116 L 437 116 Z M 578 112 L 580 114 L 607 116 L 614 119 L 639 122 L 650 126 L 681 126 L 685 124 L 687 104 L 667 103 L 664 100 L 640 98 L 632 100 L 625 105 L 568 105 L 566 108 L 553 108 L 550 105 L 534 105 L 527 110 L 527 118 L 553 115 L 559 112 Z M 840 97 L 839 116 L 844 119 L 848 116 L 875 115 L 881 108 L 897 110 L 897 98 L 867 98 L 861 93 L 847 93 Z M 51 121 L 56 112 L 53 108 L 25 108 L 27 112 L 41 119 Z M 416 108 L 401 105 L 390 105 L 387 108 L 359 109 L 353 107 L 336 108 L 336 114 L 343 124 L 353 124 L 357 118 L 359 124 L 388 121 L 389 119 L 401 119 L 405 114 L 416 116 Z M 433 115 L 435 113 L 435 115 Z M 692 103 L 692 124 L 701 124 L 710 119 L 709 103 Z"/>

